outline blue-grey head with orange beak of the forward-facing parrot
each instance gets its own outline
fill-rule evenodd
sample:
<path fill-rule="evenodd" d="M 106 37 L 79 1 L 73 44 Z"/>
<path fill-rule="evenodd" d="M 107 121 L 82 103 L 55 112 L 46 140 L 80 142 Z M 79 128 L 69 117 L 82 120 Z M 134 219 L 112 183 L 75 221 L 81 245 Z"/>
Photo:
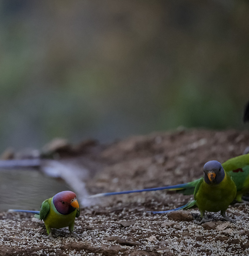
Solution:
<path fill-rule="evenodd" d="M 225 177 L 225 171 L 218 161 L 209 161 L 204 164 L 203 167 L 204 171 L 204 180 L 207 184 L 218 184 L 220 183 Z"/>

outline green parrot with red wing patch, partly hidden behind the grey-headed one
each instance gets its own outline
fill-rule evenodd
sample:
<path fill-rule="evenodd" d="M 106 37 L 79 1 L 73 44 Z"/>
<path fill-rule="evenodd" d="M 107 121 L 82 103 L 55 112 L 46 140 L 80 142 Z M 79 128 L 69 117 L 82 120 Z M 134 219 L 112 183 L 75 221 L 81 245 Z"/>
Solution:
<path fill-rule="evenodd" d="M 222 164 L 226 173 L 228 173 L 234 180 L 237 187 L 236 200 L 237 202 L 243 202 L 242 196 L 249 192 L 249 154 L 233 157 Z M 144 191 L 155 191 L 155 190 L 176 190 L 179 193 L 184 195 L 192 195 L 194 193 L 195 187 L 198 180 L 194 180 L 188 183 L 177 184 L 173 186 L 165 186 L 159 188 L 145 188 L 139 190 L 128 190 L 121 192 L 109 192 L 109 193 L 100 193 L 92 195 L 90 197 L 99 197 L 99 196 L 112 196 L 120 194 L 129 194 L 135 192 L 144 192 Z"/>

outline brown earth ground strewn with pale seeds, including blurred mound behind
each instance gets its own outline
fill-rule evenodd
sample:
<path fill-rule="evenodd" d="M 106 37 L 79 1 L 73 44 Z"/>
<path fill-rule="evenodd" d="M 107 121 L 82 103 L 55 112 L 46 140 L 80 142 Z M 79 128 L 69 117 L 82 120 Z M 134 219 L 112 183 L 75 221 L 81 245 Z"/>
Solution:
<path fill-rule="evenodd" d="M 87 186 L 91 193 L 187 182 L 202 175 L 206 161 L 241 155 L 249 133 L 181 131 L 139 136 L 113 143 L 95 161 L 103 164 Z M 99 166 L 99 165 L 98 165 Z M 47 239 L 42 221 L 26 213 L 0 213 L 0 255 L 248 255 L 247 205 L 231 205 L 234 222 L 208 213 L 199 225 L 198 209 L 151 214 L 186 204 L 191 196 L 154 191 L 100 198 L 82 207 L 74 231 L 54 230 Z"/>

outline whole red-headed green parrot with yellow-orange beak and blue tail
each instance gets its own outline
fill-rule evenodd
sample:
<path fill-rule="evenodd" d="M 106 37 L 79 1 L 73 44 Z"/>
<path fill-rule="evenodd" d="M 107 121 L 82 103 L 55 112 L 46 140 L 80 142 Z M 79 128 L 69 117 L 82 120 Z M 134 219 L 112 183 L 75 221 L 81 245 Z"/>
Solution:
<path fill-rule="evenodd" d="M 46 199 L 43 201 L 40 211 L 9 210 L 9 212 L 35 213 L 36 217 L 44 221 L 48 238 L 51 240 L 56 240 L 52 235 L 51 228 L 68 227 L 73 237 L 79 237 L 73 230 L 75 217 L 80 215 L 80 206 L 72 191 L 62 191 Z"/>

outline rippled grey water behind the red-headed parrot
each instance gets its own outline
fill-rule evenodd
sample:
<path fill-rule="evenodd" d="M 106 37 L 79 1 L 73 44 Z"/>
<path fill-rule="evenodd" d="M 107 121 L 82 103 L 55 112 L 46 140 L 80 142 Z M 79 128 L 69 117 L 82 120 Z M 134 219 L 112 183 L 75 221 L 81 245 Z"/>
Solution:
<path fill-rule="evenodd" d="M 64 180 L 45 176 L 35 169 L 0 171 L 0 211 L 39 210 L 42 202 L 63 190 L 72 190 Z"/>

